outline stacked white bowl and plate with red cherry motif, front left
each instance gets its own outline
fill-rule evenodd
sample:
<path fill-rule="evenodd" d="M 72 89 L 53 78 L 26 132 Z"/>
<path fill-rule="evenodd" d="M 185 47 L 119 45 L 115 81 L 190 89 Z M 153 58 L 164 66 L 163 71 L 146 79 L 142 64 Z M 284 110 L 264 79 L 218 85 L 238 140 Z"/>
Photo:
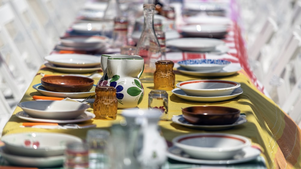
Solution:
<path fill-rule="evenodd" d="M 62 133 L 18 133 L 2 136 L 1 156 L 12 165 L 23 167 L 61 167 L 66 143 L 82 142 L 79 137 Z"/>

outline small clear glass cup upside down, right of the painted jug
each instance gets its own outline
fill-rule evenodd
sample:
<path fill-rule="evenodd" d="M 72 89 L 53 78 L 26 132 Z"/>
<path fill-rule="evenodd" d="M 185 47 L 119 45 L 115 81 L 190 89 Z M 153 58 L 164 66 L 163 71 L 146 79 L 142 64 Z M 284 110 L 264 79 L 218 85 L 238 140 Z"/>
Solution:
<path fill-rule="evenodd" d="M 168 93 L 165 90 L 152 90 L 148 94 L 148 109 L 159 109 L 160 119 L 168 120 Z"/>

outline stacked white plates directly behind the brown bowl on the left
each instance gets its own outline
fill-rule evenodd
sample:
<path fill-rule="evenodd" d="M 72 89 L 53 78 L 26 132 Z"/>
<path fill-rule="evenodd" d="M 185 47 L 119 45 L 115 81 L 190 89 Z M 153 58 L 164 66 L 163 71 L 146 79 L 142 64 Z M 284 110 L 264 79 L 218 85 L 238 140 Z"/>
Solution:
<path fill-rule="evenodd" d="M 45 56 L 47 68 L 69 73 L 89 73 L 101 69 L 101 57 L 85 54 L 52 54 Z"/>

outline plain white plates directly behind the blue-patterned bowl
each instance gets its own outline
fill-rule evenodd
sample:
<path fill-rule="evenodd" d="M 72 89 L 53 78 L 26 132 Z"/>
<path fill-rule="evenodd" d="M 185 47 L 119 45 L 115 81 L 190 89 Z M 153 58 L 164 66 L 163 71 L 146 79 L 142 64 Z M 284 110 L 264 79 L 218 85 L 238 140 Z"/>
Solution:
<path fill-rule="evenodd" d="M 230 50 L 224 41 L 216 38 L 175 38 L 166 41 L 166 47 L 171 51 L 210 54 L 223 54 Z"/>

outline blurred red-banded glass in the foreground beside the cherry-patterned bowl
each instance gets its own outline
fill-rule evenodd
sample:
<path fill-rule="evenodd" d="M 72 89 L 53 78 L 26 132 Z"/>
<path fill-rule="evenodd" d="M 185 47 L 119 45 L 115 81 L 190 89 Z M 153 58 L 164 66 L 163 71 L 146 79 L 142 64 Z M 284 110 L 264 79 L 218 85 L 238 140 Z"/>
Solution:
<path fill-rule="evenodd" d="M 89 169 L 89 146 L 87 143 L 70 142 L 66 145 L 64 169 Z"/>

